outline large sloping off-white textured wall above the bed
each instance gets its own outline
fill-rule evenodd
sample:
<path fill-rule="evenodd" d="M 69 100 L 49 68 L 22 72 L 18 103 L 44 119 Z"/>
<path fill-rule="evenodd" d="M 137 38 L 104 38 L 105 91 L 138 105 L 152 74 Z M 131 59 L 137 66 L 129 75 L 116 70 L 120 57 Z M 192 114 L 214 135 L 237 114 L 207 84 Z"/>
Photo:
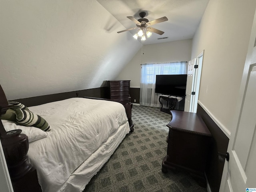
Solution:
<path fill-rule="evenodd" d="M 0 84 L 8 100 L 96 88 L 140 49 L 96 0 L 0 1 Z"/>

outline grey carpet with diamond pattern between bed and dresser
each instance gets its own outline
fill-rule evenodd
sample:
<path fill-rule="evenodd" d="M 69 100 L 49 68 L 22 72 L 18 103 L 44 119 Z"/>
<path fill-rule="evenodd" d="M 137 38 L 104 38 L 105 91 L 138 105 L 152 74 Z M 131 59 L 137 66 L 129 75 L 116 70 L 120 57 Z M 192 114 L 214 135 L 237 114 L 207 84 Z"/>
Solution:
<path fill-rule="evenodd" d="M 134 132 L 126 135 L 84 192 L 207 192 L 186 172 L 161 171 L 170 114 L 133 106 L 132 120 Z"/>

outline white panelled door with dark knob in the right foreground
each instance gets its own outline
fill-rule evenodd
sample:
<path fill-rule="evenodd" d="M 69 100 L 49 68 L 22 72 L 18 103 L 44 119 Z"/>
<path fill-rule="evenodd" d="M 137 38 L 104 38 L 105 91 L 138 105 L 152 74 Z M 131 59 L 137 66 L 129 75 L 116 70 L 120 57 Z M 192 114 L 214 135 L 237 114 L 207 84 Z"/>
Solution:
<path fill-rule="evenodd" d="M 228 145 L 220 192 L 256 192 L 256 15 Z M 254 188 L 255 190 L 247 188 Z"/>

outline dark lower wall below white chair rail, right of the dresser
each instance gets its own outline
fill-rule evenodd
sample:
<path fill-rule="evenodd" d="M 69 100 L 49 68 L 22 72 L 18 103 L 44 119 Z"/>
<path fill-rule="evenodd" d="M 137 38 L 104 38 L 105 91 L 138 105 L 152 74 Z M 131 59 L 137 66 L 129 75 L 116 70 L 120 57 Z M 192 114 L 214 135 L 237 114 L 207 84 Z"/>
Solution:
<path fill-rule="evenodd" d="M 226 154 L 229 138 L 220 127 L 212 120 L 207 112 L 198 104 L 197 114 L 199 114 L 212 134 L 212 144 L 206 166 L 206 176 L 212 192 L 218 192 L 224 168 L 224 162 L 220 162 L 218 152 Z"/>

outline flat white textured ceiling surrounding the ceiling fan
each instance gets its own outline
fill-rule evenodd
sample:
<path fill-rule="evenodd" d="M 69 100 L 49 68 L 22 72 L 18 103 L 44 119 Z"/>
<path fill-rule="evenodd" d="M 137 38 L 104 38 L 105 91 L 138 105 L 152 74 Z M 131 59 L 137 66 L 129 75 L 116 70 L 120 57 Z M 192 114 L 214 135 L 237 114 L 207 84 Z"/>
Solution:
<path fill-rule="evenodd" d="M 209 0 L 97 0 L 110 14 L 112 14 L 124 29 L 135 27 L 136 24 L 126 16 L 133 16 L 137 20 L 139 13 L 146 12 L 149 21 L 166 16 L 168 21 L 155 24 L 154 28 L 164 31 L 159 35 L 153 33 L 144 44 L 155 44 L 193 38 L 194 33 L 204 14 Z M 110 26 L 111 27 L 111 26 Z M 126 31 L 134 35 L 137 29 Z M 116 34 L 120 35 L 120 34 Z M 158 38 L 168 37 L 158 40 Z"/>

